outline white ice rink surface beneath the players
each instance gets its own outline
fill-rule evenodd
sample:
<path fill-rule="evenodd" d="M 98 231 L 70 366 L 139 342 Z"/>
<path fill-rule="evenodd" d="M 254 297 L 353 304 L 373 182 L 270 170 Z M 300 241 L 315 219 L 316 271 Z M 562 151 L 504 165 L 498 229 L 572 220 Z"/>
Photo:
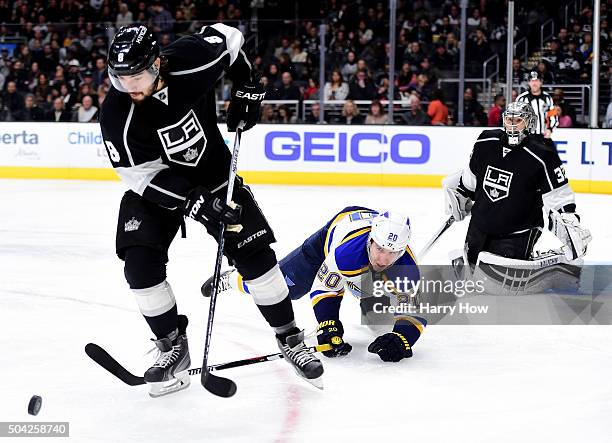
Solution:
<path fill-rule="evenodd" d="M 443 220 L 439 189 L 253 188 L 279 257 L 347 205 L 404 208 L 416 251 Z M 611 326 L 430 325 L 413 358 L 383 363 L 367 353 L 374 335 L 346 297 L 341 318 L 353 352 L 324 359 L 324 391 L 282 361 L 219 373 L 238 384 L 231 399 L 197 377 L 160 399 L 123 385 L 83 352 L 96 342 L 139 374 L 151 358 L 151 333 L 114 252 L 123 191 L 114 182 L 0 180 L 0 421 L 69 421 L 75 442 L 612 441 Z M 594 238 L 587 261 L 609 262 L 612 196 L 582 194 L 577 204 Z M 425 263 L 446 263 L 466 228 L 451 227 Z M 170 250 L 168 280 L 189 315 L 198 365 L 208 312 L 200 285 L 216 244 L 196 223 L 187 231 Z M 538 249 L 557 246 L 543 237 Z M 312 330 L 309 300 L 294 307 Z M 277 351 L 247 297 L 221 296 L 217 308 L 211 362 Z M 37 417 L 27 415 L 33 394 L 43 398 Z"/>

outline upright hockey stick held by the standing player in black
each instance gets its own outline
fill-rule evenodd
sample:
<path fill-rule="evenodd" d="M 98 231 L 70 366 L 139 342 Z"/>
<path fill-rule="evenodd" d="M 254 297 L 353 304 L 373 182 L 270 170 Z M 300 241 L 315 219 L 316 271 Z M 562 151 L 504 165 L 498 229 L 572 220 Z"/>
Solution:
<path fill-rule="evenodd" d="M 241 121 L 236 128 L 236 138 L 234 139 L 234 149 L 232 150 L 232 160 L 230 164 L 229 178 L 227 179 L 227 195 L 225 204 L 230 205 L 234 192 L 234 181 L 238 169 L 238 152 L 240 151 L 240 137 L 245 123 Z M 210 373 L 208 369 L 208 353 L 210 350 L 210 338 L 212 335 L 213 320 L 215 318 L 215 306 L 217 305 L 217 293 L 219 291 L 219 277 L 221 275 L 221 262 L 223 261 L 223 248 L 225 246 L 225 223 L 219 223 L 219 246 L 217 248 L 217 260 L 215 262 L 215 272 L 213 274 L 213 291 L 210 297 L 208 308 L 208 324 L 206 326 L 206 340 L 204 342 L 204 357 L 202 359 L 202 376 L 200 382 L 209 392 L 219 397 L 231 397 L 236 393 L 236 383 L 229 378 L 219 377 Z"/>

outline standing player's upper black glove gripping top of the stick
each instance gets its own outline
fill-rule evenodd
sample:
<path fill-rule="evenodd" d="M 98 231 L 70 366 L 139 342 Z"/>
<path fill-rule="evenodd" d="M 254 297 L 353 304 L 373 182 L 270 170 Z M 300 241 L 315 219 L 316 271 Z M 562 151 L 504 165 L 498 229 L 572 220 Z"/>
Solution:
<path fill-rule="evenodd" d="M 266 92 L 259 79 L 252 83 L 234 85 L 232 99 L 227 108 L 227 129 L 235 132 L 238 124 L 245 123 L 243 131 L 248 131 L 259 121 L 261 102 Z"/>

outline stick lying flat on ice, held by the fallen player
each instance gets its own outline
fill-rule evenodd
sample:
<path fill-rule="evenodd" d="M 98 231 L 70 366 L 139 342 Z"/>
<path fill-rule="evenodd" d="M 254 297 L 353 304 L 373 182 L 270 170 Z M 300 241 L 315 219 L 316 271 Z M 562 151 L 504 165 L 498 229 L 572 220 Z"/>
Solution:
<path fill-rule="evenodd" d="M 308 350 L 311 352 L 324 352 L 324 351 L 329 351 L 330 349 L 331 349 L 330 344 L 311 346 L 310 348 L 308 348 Z M 85 346 L 85 353 L 89 356 L 89 358 L 91 358 L 98 365 L 100 365 L 101 367 L 106 369 L 108 372 L 113 374 L 115 377 L 117 377 L 119 380 L 121 380 L 126 385 L 140 386 L 140 385 L 145 384 L 144 377 L 139 377 L 137 375 L 134 375 L 130 371 L 125 369 L 125 367 L 123 367 L 121 363 L 115 360 L 101 346 L 95 343 L 88 343 Z M 260 357 L 251 357 L 251 358 L 245 358 L 243 360 L 236 360 L 236 361 L 231 361 L 227 363 L 220 363 L 220 364 L 212 365 L 208 367 L 208 370 L 210 372 L 222 371 L 223 369 L 231 369 L 231 368 L 238 368 L 241 366 L 249 366 L 255 363 L 263 363 L 266 361 L 280 360 L 282 358 L 284 358 L 283 354 L 280 352 L 277 352 L 275 354 L 262 355 Z M 202 373 L 202 368 L 189 369 L 189 375 L 198 375 L 201 373 Z"/>

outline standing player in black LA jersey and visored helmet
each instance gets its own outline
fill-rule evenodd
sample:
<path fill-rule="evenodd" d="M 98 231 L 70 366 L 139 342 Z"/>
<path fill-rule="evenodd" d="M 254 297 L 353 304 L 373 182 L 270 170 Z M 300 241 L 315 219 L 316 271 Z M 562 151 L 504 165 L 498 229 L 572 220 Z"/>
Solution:
<path fill-rule="evenodd" d="M 218 223 L 241 224 L 226 235 L 225 255 L 253 288 L 252 296 L 298 374 L 318 384 L 321 362 L 305 347 L 287 285 L 270 244 L 274 233 L 248 186 L 237 177 L 225 204 L 231 155 L 217 127 L 214 85 L 232 81 L 227 126 L 246 131 L 259 118 L 264 91 L 242 50 L 242 34 L 215 24 L 160 51 L 145 26 L 121 28 L 108 55 L 113 88 L 100 126 L 108 156 L 129 190 L 119 209 L 116 249 L 140 312 L 160 351 L 146 371 L 151 395 L 186 387 L 187 318 L 177 314 L 166 281 L 168 248 L 188 215 L 218 237 Z M 287 339 L 294 344 L 287 345 Z"/>

